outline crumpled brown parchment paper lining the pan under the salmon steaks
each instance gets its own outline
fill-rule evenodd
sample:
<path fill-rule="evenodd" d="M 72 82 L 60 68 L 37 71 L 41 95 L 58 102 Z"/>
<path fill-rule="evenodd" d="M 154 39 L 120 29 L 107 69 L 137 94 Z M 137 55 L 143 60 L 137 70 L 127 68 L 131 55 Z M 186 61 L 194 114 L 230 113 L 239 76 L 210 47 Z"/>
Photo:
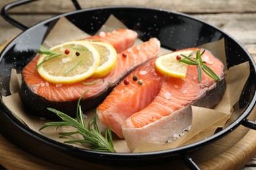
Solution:
<path fill-rule="evenodd" d="M 63 27 L 65 25 L 65 27 Z M 110 16 L 107 22 L 102 26 L 100 31 L 113 31 L 114 29 L 126 28 L 119 20 L 117 20 L 114 16 Z M 72 33 L 72 37 L 70 37 L 70 32 Z M 75 25 L 71 24 L 66 18 L 60 18 L 60 20 L 56 23 L 49 33 L 49 36 L 45 39 L 45 46 L 54 46 L 56 44 L 60 44 L 62 42 L 71 41 L 74 39 L 83 39 L 88 37 L 87 33 L 84 33 Z M 61 37 L 61 39 L 60 39 Z M 136 44 L 142 43 L 139 39 Z M 226 65 L 226 56 L 224 52 L 224 40 L 221 39 L 217 42 L 211 42 L 208 44 L 204 44 L 202 46 L 208 50 L 211 50 L 217 58 L 221 59 L 223 63 Z M 164 48 L 161 48 L 160 54 L 165 54 L 170 52 Z M 225 66 L 226 68 L 226 66 Z M 184 133 L 179 139 L 166 143 L 163 145 L 142 143 L 140 144 L 133 152 L 149 152 L 155 150 L 166 150 L 169 148 L 175 148 L 178 146 L 182 146 L 184 144 L 194 143 L 196 141 L 200 141 L 205 139 L 215 133 L 217 127 L 224 127 L 230 116 L 232 115 L 233 106 L 239 100 L 240 94 L 242 92 L 242 88 L 249 76 L 249 63 L 245 62 L 240 65 L 236 65 L 235 67 L 231 67 L 228 71 L 226 71 L 226 92 L 224 93 L 224 97 L 214 109 L 205 109 L 200 107 L 192 107 L 193 111 L 193 119 L 192 126 L 190 130 Z M 72 127 L 48 127 L 39 131 L 39 128 L 43 126 L 46 122 L 53 122 L 49 120 L 45 120 L 45 118 L 39 118 L 32 116 L 26 112 L 22 105 L 22 101 L 18 92 L 20 91 L 20 82 L 21 76 L 16 74 L 16 71 L 12 71 L 11 82 L 10 82 L 10 90 L 11 94 L 9 96 L 3 96 L 3 102 L 7 107 L 11 110 L 11 112 L 21 121 L 26 124 L 26 126 L 33 129 L 37 133 L 41 135 L 45 135 L 55 141 L 66 141 L 66 139 L 58 138 L 58 133 L 74 131 Z M 95 109 L 91 109 L 88 112 L 85 112 L 87 115 L 85 118 L 85 122 L 88 122 L 94 115 Z M 100 124 L 100 122 L 98 122 Z M 102 129 L 104 126 L 100 125 Z M 112 133 L 114 135 L 114 133 Z M 81 138 L 78 135 L 74 138 Z M 87 148 L 85 144 L 73 144 L 74 146 Z M 125 140 L 118 139 L 116 135 L 114 135 L 114 147 L 117 152 L 131 152 L 127 147 Z"/>

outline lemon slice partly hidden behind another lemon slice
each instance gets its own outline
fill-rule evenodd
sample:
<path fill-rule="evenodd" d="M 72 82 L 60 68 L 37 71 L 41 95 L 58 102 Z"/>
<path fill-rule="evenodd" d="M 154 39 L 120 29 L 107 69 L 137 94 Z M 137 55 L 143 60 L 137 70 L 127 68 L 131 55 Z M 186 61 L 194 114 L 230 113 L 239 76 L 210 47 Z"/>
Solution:
<path fill-rule="evenodd" d="M 100 65 L 91 78 L 100 78 L 112 71 L 116 65 L 117 53 L 112 44 L 106 42 L 91 42 L 100 54 Z"/>

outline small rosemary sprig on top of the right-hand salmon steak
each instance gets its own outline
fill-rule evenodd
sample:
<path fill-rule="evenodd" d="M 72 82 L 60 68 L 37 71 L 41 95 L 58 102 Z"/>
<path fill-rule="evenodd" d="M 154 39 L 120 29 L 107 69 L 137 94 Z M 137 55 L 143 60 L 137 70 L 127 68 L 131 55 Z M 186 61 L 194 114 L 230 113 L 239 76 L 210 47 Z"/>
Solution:
<path fill-rule="evenodd" d="M 188 56 L 185 56 L 184 54 L 181 54 L 181 56 L 184 59 L 179 59 L 179 62 L 186 63 L 188 65 L 196 65 L 196 68 L 198 69 L 198 82 L 202 81 L 202 71 L 205 72 L 206 75 L 213 78 L 214 80 L 221 80 L 218 75 L 207 65 L 205 65 L 205 61 L 202 60 L 202 56 L 204 54 L 205 50 L 203 50 L 202 53 L 200 53 L 200 50 L 192 51 Z M 192 56 L 196 53 L 196 58 L 192 58 Z"/>

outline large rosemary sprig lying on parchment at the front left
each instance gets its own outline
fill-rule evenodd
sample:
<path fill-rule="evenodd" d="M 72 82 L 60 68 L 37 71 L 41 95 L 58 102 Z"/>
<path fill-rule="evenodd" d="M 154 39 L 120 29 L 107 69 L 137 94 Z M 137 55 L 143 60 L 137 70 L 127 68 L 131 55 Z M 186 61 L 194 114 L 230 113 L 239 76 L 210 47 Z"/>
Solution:
<path fill-rule="evenodd" d="M 88 92 L 85 91 L 85 93 Z M 112 139 L 112 133 L 110 130 L 110 127 L 108 127 L 105 131 L 105 136 L 103 136 L 100 133 L 100 130 L 98 128 L 98 125 L 96 124 L 96 114 L 95 116 L 89 121 L 88 127 L 85 127 L 85 122 L 83 118 L 83 112 L 81 110 L 81 105 L 79 105 L 81 97 L 79 98 L 79 101 L 77 102 L 77 118 L 74 119 L 67 114 L 64 114 L 63 112 L 60 112 L 59 110 L 53 109 L 53 108 L 47 108 L 48 110 L 51 110 L 52 112 L 56 113 L 58 117 L 62 119 L 62 122 L 48 122 L 45 123 L 39 130 L 44 129 L 45 127 L 50 126 L 72 126 L 75 127 L 76 131 L 70 131 L 66 133 L 59 133 L 59 137 L 68 137 L 75 134 L 80 134 L 83 136 L 83 139 L 71 139 L 68 141 L 64 141 L 64 143 L 85 143 L 89 144 L 89 146 L 95 150 L 100 152 L 116 152 L 114 149 L 113 139 Z"/>

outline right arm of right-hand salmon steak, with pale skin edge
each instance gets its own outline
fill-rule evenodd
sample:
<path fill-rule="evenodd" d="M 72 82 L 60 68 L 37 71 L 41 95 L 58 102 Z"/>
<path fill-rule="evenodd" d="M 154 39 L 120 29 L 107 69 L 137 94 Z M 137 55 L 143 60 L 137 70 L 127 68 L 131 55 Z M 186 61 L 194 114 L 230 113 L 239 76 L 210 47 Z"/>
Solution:
<path fill-rule="evenodd" d="M 202 82 L 198 82 L 195 65 L 188 65 L 184 79 L 165 78 L 160 92 L 152 103 L 131 115 L 122 124 L 123 136 L 131 150 L 143 142 L 164 144 L 182 133 L 192 122 L 191 105 L 212 108 L 219 103 L 226 88 L 224 65 L 207 51 L 202 59 L 221 77 L 221 81 L 216 82 L 203 73 Z M 137 102 L 144 99 L 146 96 Z"/>

